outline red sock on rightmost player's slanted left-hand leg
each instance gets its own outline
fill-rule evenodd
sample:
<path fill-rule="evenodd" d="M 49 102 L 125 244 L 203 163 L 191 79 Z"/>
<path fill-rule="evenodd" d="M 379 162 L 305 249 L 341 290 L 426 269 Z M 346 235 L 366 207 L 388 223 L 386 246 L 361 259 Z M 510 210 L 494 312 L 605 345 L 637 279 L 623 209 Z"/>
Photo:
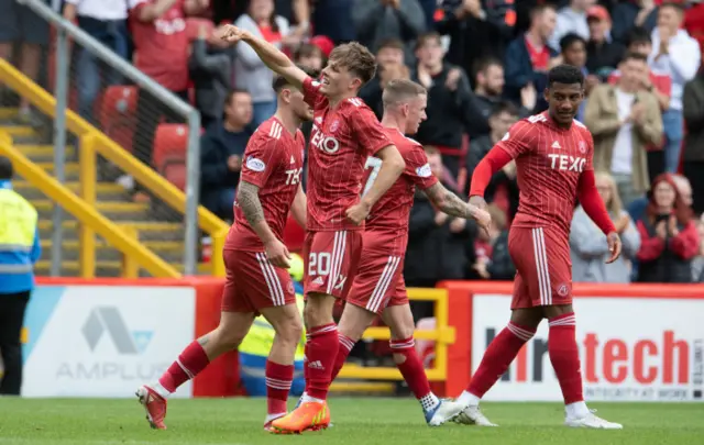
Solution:
<path fill-rule="evenodd" d="M 472 376 L 466 391 L 480 399 L 484 397 L 514 361 L 520 348 L 536 334 L 536 330 L 508 325 L 492 341 L 486 348 L 480 367 Z"/>

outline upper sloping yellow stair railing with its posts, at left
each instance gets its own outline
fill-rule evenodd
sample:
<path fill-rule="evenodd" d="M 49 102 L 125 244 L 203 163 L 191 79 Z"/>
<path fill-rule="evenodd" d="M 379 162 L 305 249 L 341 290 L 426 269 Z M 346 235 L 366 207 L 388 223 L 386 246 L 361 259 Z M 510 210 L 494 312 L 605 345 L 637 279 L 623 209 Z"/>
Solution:
<path fill-rule="evenodd" d="M 4 59 L 0 59 L 0 82 L 19 92 L 20 96 L 29 100 L 42 112 L 54 116 L 56 111 L 54 97 Z M 138 160 L 128 151 L 72 110 L 66 110 L 66 127 L 80 140 L 80 197 L 88 205 L 94 208 L 96 203 L 96 157 L 100 154 L 131 175 L 152 194 L 179 212 L 185 212 L 186 196 L 183 191 L 164 179 L 150 166 Z M 61 204 L 63 207 L 64 202 L 61 202 Z M 210 234 L 212 238 L 212 275 L 224 277 L 221 252 L 229 226 L 204 207 L 198 208 L 198 226 Z M 80 229 L 80 271 L 84 278 L 94 278 L 92 271 L 95 271 L 96 258 L 95 232 L 97 232 L 95 229 L 90 224 L 84 224 Z M 129 255 L 131 252 L 127 254 Z"/>

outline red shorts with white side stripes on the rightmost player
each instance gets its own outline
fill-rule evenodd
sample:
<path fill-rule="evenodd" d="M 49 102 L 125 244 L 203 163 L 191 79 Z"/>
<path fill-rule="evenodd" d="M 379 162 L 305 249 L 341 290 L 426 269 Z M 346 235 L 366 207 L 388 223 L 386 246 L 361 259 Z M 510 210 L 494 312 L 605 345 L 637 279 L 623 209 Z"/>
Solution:
<path fill-rule="evenodd" d="M 566 237 L 542 227 L 512 227 L 508 253 L 516 265 L 512 309 L 572 304 Z"/>

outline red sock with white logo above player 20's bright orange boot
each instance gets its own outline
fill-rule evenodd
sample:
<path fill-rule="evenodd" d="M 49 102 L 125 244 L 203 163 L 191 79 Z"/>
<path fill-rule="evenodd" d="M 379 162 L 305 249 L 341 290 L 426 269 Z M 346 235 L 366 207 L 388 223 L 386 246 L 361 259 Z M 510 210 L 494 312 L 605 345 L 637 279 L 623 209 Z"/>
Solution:
<path fill-rule="evenodd" d="M 338 326 L 334 323 L 316 326 L 308 331 L 308 335 L 306 393 L 314 399 L 326 400 L 338 356 Z"/>

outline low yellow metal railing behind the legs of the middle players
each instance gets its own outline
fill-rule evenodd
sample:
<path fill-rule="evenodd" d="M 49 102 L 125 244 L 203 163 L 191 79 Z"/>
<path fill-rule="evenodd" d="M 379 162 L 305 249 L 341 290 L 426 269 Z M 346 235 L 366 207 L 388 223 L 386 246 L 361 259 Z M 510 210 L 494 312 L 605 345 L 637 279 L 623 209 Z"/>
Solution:
<path fill-rule="evenodd" d="M 436 342 L 435 367 L 426 369 L 426 376 L 430 381 L 443 381 L 448 376 L 448 345 L 454 343 L 454 327 L 448 324 L 448 291 L 446 289 L 409 288 L 408 299 L 416 301 L 435 301 L 436 329 L 417 330 L 414 333 L 416 340 L 432 340 Z M 364 331 L 363 338 L 389 340 L 388 327 L 370 327 Z M 340 377 L 366 380 L 403 380 L 398 369 L 388 367 L 355 367 L 344 366 L 340 370 Z"/>

